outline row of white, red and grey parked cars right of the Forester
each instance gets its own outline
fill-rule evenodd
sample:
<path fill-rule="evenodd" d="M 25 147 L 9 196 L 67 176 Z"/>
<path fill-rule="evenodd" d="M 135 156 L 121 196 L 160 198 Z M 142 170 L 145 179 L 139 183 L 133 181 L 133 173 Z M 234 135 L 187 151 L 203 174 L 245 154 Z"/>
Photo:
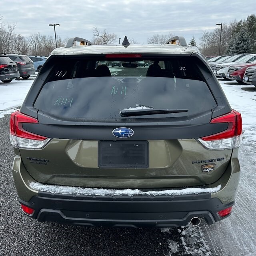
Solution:
<path fill-rule="evenodd" d="M 207 56 L 206 59 L 217 77 L 256 86 L 256 53 Z"/>

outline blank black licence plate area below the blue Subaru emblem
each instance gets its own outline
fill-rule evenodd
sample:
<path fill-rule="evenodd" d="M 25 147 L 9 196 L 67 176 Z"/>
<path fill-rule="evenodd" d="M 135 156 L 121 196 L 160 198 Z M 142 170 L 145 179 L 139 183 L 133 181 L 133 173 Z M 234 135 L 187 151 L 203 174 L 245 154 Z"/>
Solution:
<path fill-rule="evenodd" d="M 148 168 L 148 141 L 99 141 L 100 168 Z"/>

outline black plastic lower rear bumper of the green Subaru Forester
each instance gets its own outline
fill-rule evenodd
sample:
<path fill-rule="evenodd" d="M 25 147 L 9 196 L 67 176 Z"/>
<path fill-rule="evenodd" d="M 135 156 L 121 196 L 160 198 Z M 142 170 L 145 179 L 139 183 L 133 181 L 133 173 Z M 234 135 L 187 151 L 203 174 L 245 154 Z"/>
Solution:
<path fill-rule="evenodd" d="M 29 202 L 32 218 L 39 222 L 60 222 L 86 226 L 178 227 L 193 217 L 208 224 L 222 220 L 218 211 L 234 204 L 222 204 L 210 193 L 178 196 L 80 196 L 39 191 Z M 226 216 L 227 217 L 227 216 Z M 225 217 L 225 218 L 226 218 Z"/>

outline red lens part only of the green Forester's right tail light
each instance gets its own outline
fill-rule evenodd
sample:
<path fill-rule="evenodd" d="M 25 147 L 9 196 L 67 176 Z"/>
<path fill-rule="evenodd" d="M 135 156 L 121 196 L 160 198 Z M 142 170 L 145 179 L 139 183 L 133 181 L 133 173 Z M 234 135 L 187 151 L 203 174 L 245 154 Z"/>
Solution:
<path fill-rule="evenodd" d="M 236 110 L 232 110 L 230 113 L 223 116 L 218 116 L 212 119 L 210 123 L 228 123 L 228 128 L 223 132 L 203 137 L 201 138 L 202 140 L 222 140 L 242 134 L 242 117 Z"/>

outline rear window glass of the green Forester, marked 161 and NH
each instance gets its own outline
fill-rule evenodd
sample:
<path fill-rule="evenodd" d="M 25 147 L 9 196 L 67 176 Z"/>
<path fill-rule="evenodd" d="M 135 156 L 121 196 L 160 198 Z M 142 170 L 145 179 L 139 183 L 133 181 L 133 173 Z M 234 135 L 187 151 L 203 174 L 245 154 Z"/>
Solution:
<path fill-rule="evenodd" d="M 58 58 L 52 62 L 34 107 L 62 118 L 116 120 L 122 119 L 122 110 L 188 110 L 123 118 L 134 122 L 134 118 L 188 116 L 216 107 L 191 57 L 144 58 L 143 65 L 141 59 Z"/>

